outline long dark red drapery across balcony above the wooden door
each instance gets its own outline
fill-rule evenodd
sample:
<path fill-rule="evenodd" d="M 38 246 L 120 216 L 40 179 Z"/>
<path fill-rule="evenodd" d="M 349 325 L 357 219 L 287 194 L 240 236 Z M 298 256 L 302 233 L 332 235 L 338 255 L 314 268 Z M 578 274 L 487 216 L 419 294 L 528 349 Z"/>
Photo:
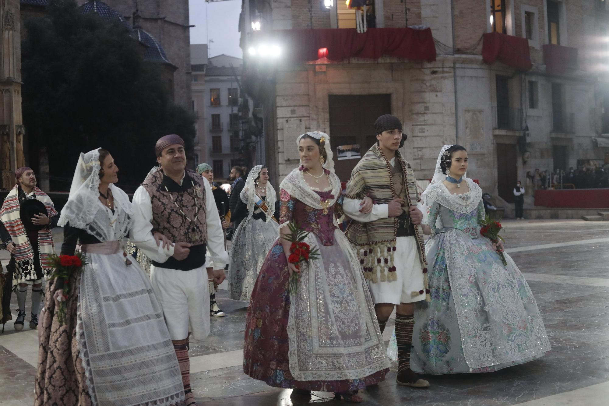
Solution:
<path fill-rule="evenodd" d="M 281 58 L 294 61 L 317 60 L 320 48 L 328 49 L 326 57 L 334 61 L 387 55 L 433 62 L 436 55 L 429 28 L 368 28 L 364 34 L 350 28 L 258 31 L 252 45 L 259 43 L 280 46 Z"/>

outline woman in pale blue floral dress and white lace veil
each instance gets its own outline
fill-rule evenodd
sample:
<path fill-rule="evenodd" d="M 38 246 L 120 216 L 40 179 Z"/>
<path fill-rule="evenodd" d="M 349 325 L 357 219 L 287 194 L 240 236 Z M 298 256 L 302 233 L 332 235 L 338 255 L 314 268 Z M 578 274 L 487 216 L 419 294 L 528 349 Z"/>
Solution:
<path fill-rule="evenodd" d="M 425 374 L 489 372 L 551 347 L 535 298 L 503 244 L 482 237 L 482 190 L 466 178 L 467 151 L 445 145 L 422 194 L 431 302 L 415 308 L 410 367 Z M 387 350 L 396 358 L 395 335 Z"/>

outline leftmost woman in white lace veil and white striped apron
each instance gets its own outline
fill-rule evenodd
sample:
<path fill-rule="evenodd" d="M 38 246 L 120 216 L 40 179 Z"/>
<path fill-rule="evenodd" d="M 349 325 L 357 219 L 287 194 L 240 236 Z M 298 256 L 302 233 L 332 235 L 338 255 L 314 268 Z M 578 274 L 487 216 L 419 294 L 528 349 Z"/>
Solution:
<path fill-rule="evenodd" d="M 170 406 L 185 400 L 163 310 L 148 276 L 121 249 L 133 210 L 113 184 L 117 173 L 108 151 L 80 154 L 58 225 L 64 227 L 62 254 L 74 255 L 79 243 L 86 263 L 72 279 L 47 284 L 35 405 Z M 60 301 L 66 302 L 65 324 L 58 321 Z"/>

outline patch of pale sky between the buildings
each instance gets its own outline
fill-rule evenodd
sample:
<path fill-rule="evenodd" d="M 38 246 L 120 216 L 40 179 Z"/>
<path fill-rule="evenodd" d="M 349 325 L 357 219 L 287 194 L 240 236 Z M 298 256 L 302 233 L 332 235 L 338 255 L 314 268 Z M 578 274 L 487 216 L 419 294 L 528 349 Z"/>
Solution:
<path fill-rule="evenodd" d="M 238 31 L 241 0 L 211 3 L 189 0 L 189 5 L 190 23 L 195 26 L 191 28 L 191 44 L 208 44 L 209 57 L 220 54 L 243 56 Z"/>

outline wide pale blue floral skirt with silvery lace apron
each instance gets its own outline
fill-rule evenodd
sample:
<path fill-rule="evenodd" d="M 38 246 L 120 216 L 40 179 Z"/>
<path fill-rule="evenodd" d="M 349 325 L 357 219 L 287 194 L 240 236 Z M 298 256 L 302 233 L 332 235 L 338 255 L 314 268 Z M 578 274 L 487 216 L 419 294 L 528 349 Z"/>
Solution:
<path fill-rule="evenodd" d="M 461 230 L 438 234 L 426 251 L 431 302 L 415 309 L 413 371 L 497 371 L 550 351 L 535 298 L 509 255 L 504 266 L 487 238 Z"/>

